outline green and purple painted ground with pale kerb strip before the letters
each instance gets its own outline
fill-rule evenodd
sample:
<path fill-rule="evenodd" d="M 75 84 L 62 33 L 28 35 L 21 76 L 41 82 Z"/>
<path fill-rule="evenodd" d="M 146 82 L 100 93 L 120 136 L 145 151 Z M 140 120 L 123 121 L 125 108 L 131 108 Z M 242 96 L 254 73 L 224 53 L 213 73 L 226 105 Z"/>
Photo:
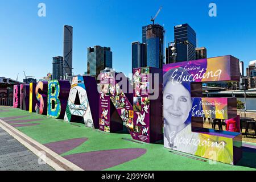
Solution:
<path fill-rule="evenodd" d="M 81 123 L 68 123 L 11 107 L 0 106 L 0 119 L 2 129 L 15 135 L 13 137 L 25 146 L 30 144 L 32 147 L 28 148 L 35 155 L 38 155 L 35 149 L 45 152 L 48 165 L 56 170 L 256 170 L 256 144 L 253 143 L 243 143 L 242 160 L 237 166 L 230 166 L 170 152 L 162 143 L 134 141 L 129 134 L 104 133 Z M 22 167 L 16 169 L 23 170 Z"/>

